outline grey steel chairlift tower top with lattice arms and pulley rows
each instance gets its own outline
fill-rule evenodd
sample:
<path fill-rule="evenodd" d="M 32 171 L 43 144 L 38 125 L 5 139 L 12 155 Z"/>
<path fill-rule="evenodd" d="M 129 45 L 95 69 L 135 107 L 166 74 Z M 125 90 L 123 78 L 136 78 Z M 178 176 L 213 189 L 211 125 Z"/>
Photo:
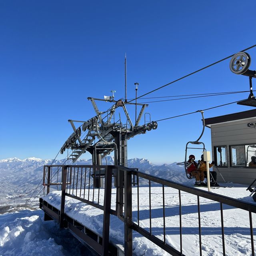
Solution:
<path fill-rule="evenodd" d="M 144 110 L 148 105 L 134 104 L 123 100 L 115 101 L 114 96 L 108 97 L 105 100 L 88 97 L 88 100 L 92 102 L 96 115 L 87 121 L 68 120 L 74 132 L 62 146 L 60 153 L 63 154 L 66 149 L 71 149 L 68 158 L 76 162 L 84 152 L 88 151 L 92 154 L 93 163 L 101 164 L 101 159 L 114 151 L 115 164 L 127 166 L 127 140 L 138 134 L 144 134 L 146 131 L 155 130 L 158 126 L 156 122 L 151 122 L 149 113 L 144 114 L 144 124 L 139 125 Z M 114 104 L 107 111 L 100 112 L 96 105 L 96 100 L 112 102 Z M 141 106 L 134 125 L 126 109 L 127 104 Z M 124 111 L 126 116 L 124 123 L 121 122 L 121 118 L 117 121 L 114 118 L 117 108 L 122 108 Z M 150 121 L 147 123 L 146 114 L 150 118 Z M 76 128 L 74 123 L 82 124 Z"/>

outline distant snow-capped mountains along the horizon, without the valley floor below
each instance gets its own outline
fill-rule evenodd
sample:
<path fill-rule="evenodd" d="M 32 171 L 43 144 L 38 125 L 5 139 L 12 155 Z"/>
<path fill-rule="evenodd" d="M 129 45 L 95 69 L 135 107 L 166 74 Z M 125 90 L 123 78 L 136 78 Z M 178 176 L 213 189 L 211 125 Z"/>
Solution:
<path fill-rule="evenodd" d="M 24 186 L 24 184 L 37 184 L 42 178 L 44 165 L 62 165 L 66 159 L 40 159 L 40 158 L 26 158 L 20 160 L 19 158 L 7 158 L 0 160 L 0 181 L 11 183 L 16 186 Z M 68 160 L 65 164 L 73 165 L 90 165 L 92 159 L 78 159 L 75 163 Z M 114 157 L 107 156 L 102 159 L 102 164 L 114 165 Z M 175 182 L 185 182 L 186 176 L 183 172 L 183 166 L 177 165 L 176 162 L 172 164 L 155 165 L 145 158 L 132 158 L 128 160 L 128 167 L 138 168 L 141 172 L 146 172 L 160 178 L 165 178 Z M 3 184 L 3 183 L 2 183 Z"/>

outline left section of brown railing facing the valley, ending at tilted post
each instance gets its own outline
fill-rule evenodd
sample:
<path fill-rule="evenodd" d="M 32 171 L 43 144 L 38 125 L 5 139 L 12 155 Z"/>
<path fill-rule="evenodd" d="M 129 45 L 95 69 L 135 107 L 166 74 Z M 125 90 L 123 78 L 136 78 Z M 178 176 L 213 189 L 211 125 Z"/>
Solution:
<path fill-rule="evenodd" d="M 114 166 L 44 166 L 44 185 L 47 186 L 47 194 L 50 192 L 50 186 L 59 185 L 56 182 L 57 175 L 62 177 L 61 182 L 61 203 L 59 212 L 60 228 L 65 224 L 65 198 L 66 196 L 75 198 L 86 204 L 90 204 L 100 210 L 103 210 L 103 231 L 101 244 L 95 244 L 91 240 L 92 246 L 96 252 L 102 255 L 108 255 L 110 214 L 116 215 L 116 210 L 111 209 L 111 191 L 112 176 Z M 54 174 L 52 171 L 54 170 Z M 98 186 L 102 182 L 102 189 Z"/>

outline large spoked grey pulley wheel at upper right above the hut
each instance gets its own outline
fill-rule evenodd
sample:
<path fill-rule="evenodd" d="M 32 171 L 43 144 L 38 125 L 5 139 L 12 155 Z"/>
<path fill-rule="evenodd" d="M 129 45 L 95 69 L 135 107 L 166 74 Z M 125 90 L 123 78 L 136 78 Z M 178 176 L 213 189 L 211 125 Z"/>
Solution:
<path fill-rule="evenodd" d="M 230 70 L 235 74 L 244 74 L 251 64 L 251 57 L 246 52 L 236 53 L 230 60 Z"/>

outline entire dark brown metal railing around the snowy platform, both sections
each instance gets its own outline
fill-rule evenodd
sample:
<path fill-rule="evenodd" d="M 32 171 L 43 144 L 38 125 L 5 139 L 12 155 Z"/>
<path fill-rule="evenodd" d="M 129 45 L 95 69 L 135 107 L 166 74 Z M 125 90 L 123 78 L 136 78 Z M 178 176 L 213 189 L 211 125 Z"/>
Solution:
<path fill-rule="evenodd" d="M 49 172 L 51 171 L 50 166 L 45 166 L 44 170 L 48 169 L 48 174 L 44 173 L 44 177 L 50 177 Z M 112 176 L 115 172 L 118 172 L 119 181 L 113 182 Z M 60 175 L 60 174 L 59 174 Z M 95 187 L 95 179 L 102 178 L 104 180 L 103 186 L 104 190 Z M 50 180 L 50 178 L 49 178 Z M 55 182 L 56 183 L 56 182 Z M 54 185 L 50 182 L 47 186 Z M 111 191 L 112 185 L 116 184 L 116 209 L 111 209 Z M 155 189 L 155 187 L 157 187 Z M 161 193 L 159 190 L 161 188 Z M 172 197 L 167 197 L 166 191 L 169 188 L 176 189 L 178 196 L 178 204 L 174 201 L 172 203 Z M 144 198 L 140 191 L 143 190 L 143 196 L 148 198 L 148 204 L 145 206 Z M 162 200 L 161 208 L 158 205 L 158 219 L 162 219 L 162 232 L 156 234 L 154 228 L 152 228 L 152 223 L 154 221 L 154 207 L 152 206 L 152 196 L 156 193 L 152 191 L 157 191 L 157 196 Z M 50 188 L 47 191 L 50 191 Z M 103 194 L 104 191 L 104 194 Z M 145 192 L 146 191 L 146 192 Z M 136 192 L 136 193 L 134 193 Z M 254 256 L 254 230 L 252 226 L 252 213 L 256 213 L 255 204 L 249 202 L 244 202 L 242 200 L 237 200 L 222 196 L 219 194 L 214 194 L 211 192 L 206 192 L 197 188 L 192 188 L 190 186 L 185 186 L 178 184 L 176 182 L 171 182 L 162 178 L 157 178 L 149 174 L 139 172 L 135 169 L 126 168 L 123 166 L 62 166 L 62 198 L 61 198 L 61 210 L 60 210 L 60 226 L 64 224 L 64 202 L 65 196 L 76 198 L 86 204 L 90 204 L 104 211 L 104 223 L 103 223 L 103 233 L 102 233 L 102 255 L 107 255 L 108 253 L 108 238 L 109 238 L 109 228 L 110 228 L 110 214 L 116 215 L 124 222 L 124 252 L 125 255 L 132 255 L 132 230 L 140 233 L 142 236 L 148 238 L 151 242 L 165 250 L 171 255 L 184 255 L 183 251 L 183 234 L 182 230 L 184 225 L 182 224 L 182 192 L 187 192 L 195 195 L 197 207 L 193 210 L 197 214 L 198 218 L 198 244 L 200 256 L 202 255 L 202 214 L 201 207 L 203 207 L 204 199 L 214 201 L 214 207 L 219 205 L 220 211 L 220 230 L 221 230 L 221 240 L 222 240 L 222 252 L 226 255 L 225 249 L 225 227 L 224 227 L 224 214 L 223 205 L 228 205 L 232 208 L 239 208 L 248 212 L 248 220 L 250 226 L 250 243 L 251 243 L 251 255 Z M 95 195 L 94 195 L 95 194 Z M 135 197 L 135 198 L 133 198 Z M 158 199 L 159 199 L 158 198 Z M 134 200 L 133 200 L 134 199 Z M 177 199 L 177 198 L 176 198 Z M 168 200 L 168 203 L 166 202 Z M 177 200 L 176 200 L 177 201 Z M 143 212 L 147 212 L 148 221 L 141 225 L 142 212 L 140 203 L 144 202 Z M 171 212 L 167 207 L 175 204 L 176 211 Z M 124 207 L 123 207 L 124 206 Z M 178 208 L 178 210 L 177 210 Z M 217 209 L 218 210 L 218 209 Z M 172 215 L 178 216 L 177 230 L 180 236 L 179 248 L 174 248 L 174 246 L 168 243 L 168 225 L 166 225 L 166 218 L 172 217 Z M 203 216 L 207 218 L 207 216 Z M 145 226 L 145 223 L 148 226 Z M 194 223 L 196 224 L 196 223 Z M 159 231 L 159 230 L 158 230 Z M 227 239 L 227 238 L 226 238 Z"/>

